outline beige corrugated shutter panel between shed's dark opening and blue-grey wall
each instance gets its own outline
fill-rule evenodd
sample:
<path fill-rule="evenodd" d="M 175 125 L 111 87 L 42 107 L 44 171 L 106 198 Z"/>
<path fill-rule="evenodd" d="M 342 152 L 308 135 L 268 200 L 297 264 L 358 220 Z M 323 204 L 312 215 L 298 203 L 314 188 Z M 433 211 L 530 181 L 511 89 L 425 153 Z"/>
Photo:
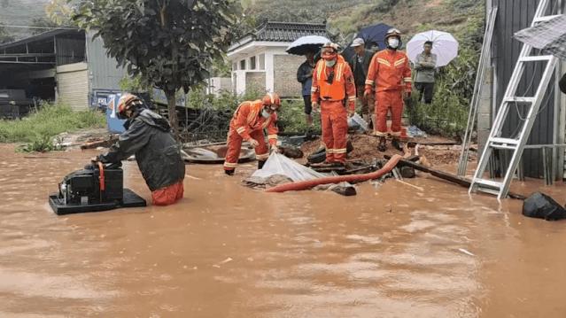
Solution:
<path fill-rule="evenodd" d="M 58 100 L 75 111 L 89 108 L 89 70 L 86 63 L 57 67 Z"/>

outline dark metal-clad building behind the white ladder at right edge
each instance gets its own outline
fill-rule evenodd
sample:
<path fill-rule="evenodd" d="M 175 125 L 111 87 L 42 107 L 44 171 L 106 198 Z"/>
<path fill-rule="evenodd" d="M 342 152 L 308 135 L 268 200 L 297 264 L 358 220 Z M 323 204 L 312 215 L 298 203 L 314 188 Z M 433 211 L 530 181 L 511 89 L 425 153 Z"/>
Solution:
<path fill-rule="evenodd" d="M 495 20 L 495 31 L 491 47 L 491 66 L 489 75 L 482 93 L 477 133 L 480 144 L 485 144 L 492 120 L 500 107 L 501 100 L 513 69 L 516 65 L 522 43 L 513 38 L 513 35 L 525 27 L 531 26 L 532 18 L 537 10 L 539 0 L 486 0 L 486 8 L 498 7 Z M 550 0 L 547 15 L 563 14 L 566 2 Z M 543 176 L 543 148 L 550 148 L 552 155 L 548 160 L 552 165 L 554 179 L 566 177 L 566 163 L 564 150 L 566 149 L 566 95 L 557 89 L 560 76 L 566 72 L 566 63 L 556 70 L 554 79 L 547 88 L 547 96 L 540 106 L 538 118 L 532 128 L 527 149 L 523 153 L 523 161 L 519 166 L 519 175 L 540 178 Z M 538 80 L 542 74 L 542 66 L 531 64 L 525 68 L 523 79 L 517 89 L 517 94 L 532 96 L 537 88 Z M 524 112 L 514 110 L 509 112 L 504 134 L 516 134 L 517 127 L 522 123 Z M 531 147 L 531 149 L 529 149 Z M 499 151 L 499 160 L 495 169 L 506 168 L 510 159 L 509 151 Z"/>

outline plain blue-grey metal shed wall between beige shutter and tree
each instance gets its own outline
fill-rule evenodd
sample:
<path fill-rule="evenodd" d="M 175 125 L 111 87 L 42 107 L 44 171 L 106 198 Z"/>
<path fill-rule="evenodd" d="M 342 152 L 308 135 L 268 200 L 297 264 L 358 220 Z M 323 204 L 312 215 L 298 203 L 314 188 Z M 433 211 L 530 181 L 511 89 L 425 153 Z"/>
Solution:
<path fill-rule="evenodd" d="M 90 91 L 97 89 L 120 89 L 120 80 L 128 74 L 125 68 L 118 66 L 114 58 L 106 56 L 106 49 L 101 38 L 92 39 L 93 33 L 87 33 L 87 58 L 89 64 Z"/>

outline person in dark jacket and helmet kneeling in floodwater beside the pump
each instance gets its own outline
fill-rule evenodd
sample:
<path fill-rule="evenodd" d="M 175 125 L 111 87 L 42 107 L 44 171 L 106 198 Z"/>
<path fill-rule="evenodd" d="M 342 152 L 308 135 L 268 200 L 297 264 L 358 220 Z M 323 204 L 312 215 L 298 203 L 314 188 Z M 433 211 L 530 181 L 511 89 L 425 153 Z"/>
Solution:
<path fill-rule="evenodd" d="M 151 190 L 153 204 L 174 204 L 183 196 L 185 165 L 171 125 L 132 94 L 120 97 L 117 111 L 118 118 L 127 119 L 126 131 L 107 153 L 94 160 L 116 163 L 135 154 L 137 166 Z"/>

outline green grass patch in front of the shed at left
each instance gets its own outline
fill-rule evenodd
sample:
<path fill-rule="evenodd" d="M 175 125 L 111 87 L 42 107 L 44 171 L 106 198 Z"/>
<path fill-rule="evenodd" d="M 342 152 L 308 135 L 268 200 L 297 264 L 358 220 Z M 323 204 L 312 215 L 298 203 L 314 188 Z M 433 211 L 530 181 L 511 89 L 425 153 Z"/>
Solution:
<path fill-rule="evenodd" d="M 57 150 L 53 138 L 82 128 L 104 128 L 105 114 L 74 112 L 68 105 L 44 104 L 20 120 L 0 120 L 0 143 L 27 143 L 22 151 Z"/>

